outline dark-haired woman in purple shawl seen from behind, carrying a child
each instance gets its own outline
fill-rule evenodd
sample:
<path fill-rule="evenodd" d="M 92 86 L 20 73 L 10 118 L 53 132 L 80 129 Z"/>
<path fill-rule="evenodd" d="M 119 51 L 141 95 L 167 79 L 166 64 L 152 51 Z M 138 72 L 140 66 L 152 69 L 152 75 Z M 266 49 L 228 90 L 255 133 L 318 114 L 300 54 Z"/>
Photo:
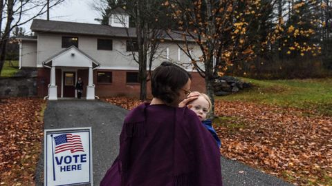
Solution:
<path fill-rule="evenodd" d="M 178 107 L 190 84 L 190 74 L 173 63 L 154 70 L 154 98 L 124 119 L 119 156 L 100 185 L 222 185 L 214 139 L 192 110 Z"/>

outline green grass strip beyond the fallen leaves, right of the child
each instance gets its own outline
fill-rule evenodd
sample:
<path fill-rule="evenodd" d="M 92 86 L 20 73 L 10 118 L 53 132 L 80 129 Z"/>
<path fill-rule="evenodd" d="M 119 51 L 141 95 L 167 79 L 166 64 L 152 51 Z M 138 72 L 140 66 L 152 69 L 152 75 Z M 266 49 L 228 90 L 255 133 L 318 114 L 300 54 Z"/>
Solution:
<path fill-rule="evenodd" d="M 252 83 L 254 87 L 238 94 L 217 96 L 216 100 L 296 107 L 332 116 L 332 79 L 242 80 Z"/>

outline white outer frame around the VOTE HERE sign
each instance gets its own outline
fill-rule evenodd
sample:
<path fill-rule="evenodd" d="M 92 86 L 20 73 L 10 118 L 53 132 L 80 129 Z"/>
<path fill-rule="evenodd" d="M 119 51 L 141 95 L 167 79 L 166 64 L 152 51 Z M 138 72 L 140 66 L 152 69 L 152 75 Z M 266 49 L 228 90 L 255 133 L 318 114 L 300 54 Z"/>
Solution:
<path fill-rule="evenodd" d="M 50 185 L 48 183 L 48 172 L 47 172 L 47 165 L 48 165 L 48 149 L 50 149 L 50 153 L 53 154 L 52 150 L 53 147 L 48 147 L 48 136 L 53 134 L 66 134 L 66 133 L 77 133 L 77 132 L 88 132 L 89 133 L 89 182 L 83 182 L 83 183 L 70 183 L 70 184 L 64 184 L 64 185 L 81 185 L 81 184 L 91 184 L 93 186 L 93 156 L 92 156 L 92 128 L 91 127 L 77 127 L 77 128 L 62 128 L 62 129 L 49 129 L 44 130 L 44 185 Z M 54 161 L 54 158 L 53 158 Z M 54 167 L 54 163 L 53 163 Z M 53 168 L 54 170 L 54 168 Z M 50 173 L 52 174 L 52 173 Z M 53 186 L 53 185 L 52 185 Z"/>

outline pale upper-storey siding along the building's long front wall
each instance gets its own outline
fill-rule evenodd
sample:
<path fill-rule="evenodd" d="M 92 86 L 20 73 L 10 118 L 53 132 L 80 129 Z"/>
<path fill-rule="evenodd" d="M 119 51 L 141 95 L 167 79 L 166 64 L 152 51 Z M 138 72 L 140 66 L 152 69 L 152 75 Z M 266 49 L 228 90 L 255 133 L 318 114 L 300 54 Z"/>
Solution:
<path fill-rule="evenodd" d="M 137 69 L 138 64 L 133 61 L 132 52 L 127 52 L 126 41 L 127 39 L 106 38 L 106 37 L 90 37 L 90 36 L 77 36 L 73 34 L 39 34 L 38 36 L 38 65 L 50 58 L 54 54 L 64 50 L 62 48 L 62 37 L 78 37 L 78 48 L 91 56 L 93 59 L 100 63 L 103 69 Z M 97 39 L 112 39 L 113 50 L 97 50 Z M 166 49 L 169 48 L 169 60 L 176 63 L 188 63 L 188 57 L 181 51 L 181 61 L 178 61 L 178 46 L 175 43 L 165 42 L 160 43 L 156 56 L 158 59 L 154 61 L 153 68 L 160 65 L 161 62 L 167 61 Z M 194 54 L 198 56 L 201 51 L 194 48 Z M 137 53 L 136 53 L 137 54 Z M 188 66 L 188 65 L 185 65 Z M 187 68 L 191 70 L 191 68 Z"/>

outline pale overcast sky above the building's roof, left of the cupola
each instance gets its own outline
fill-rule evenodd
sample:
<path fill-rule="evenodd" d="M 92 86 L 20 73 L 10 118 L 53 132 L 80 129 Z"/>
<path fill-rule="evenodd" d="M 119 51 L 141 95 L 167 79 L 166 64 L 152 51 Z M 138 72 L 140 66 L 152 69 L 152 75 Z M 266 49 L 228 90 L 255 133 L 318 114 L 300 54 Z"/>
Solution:
<path fill-rule="evenodd" d="M 93 10 L 92 4 L 93 0 L 66 0 L 50 9 L 50 20 L 98 24 L 99 22 L 94 21 L 94 19 L 100 18 L 100 15 Z M 38 19 L 46 19 L 46 14 Z M 31 32 L 31 23 L 32 21 L 22 26 L 28 34 Z"/>

